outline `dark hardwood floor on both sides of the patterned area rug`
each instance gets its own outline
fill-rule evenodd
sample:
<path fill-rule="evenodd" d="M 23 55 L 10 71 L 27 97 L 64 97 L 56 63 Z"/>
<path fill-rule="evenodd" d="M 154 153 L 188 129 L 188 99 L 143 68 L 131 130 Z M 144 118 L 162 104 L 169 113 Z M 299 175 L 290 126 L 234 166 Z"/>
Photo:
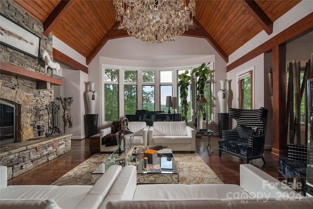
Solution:
<path fill-rule="evenodd" d="M 197 138 L 196 146 L 198 154 L 220 177 L 224 184 L 239 185 L 239 164 L 242 164 L 243 161 L 226 153 L 222 153 L 222 157 L 220 158 L 218 140 L 220 140 L 219 137 L 211 137 L 211 146 L 213 149 L 213 153 L 211 153 L 206 148 L 208 144 L 207 137 L 202 136 L 201 138 Z M 83 140 L 71 140 L 70 152 L 9 180 L 8 185 L 50 185 L 69 170 L 84 162 L 91 155 L 92 153 L 89 152 L 88 138 Z M 261 159 L 252 160 L 250 164 L 261 168 L 278 179 L 278 156 L 271 154 L 270 150 L 266 150 L 264 158 L 266 164 L 263 164 Z"/>

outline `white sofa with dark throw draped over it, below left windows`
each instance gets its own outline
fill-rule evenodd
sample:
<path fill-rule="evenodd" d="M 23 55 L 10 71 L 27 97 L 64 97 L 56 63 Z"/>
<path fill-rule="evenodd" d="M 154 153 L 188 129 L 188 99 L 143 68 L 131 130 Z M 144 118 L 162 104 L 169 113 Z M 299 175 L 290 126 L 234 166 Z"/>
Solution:
<path fill-rule="evenodd" d="M 148 129 L 149 126 L 147 126 L 146 122 L 143 121 L 132 121 L 129 122 L 128 128 L 134 132 L 134 140 L 133 145 L 148 145 Z M 106 146 L 105 144 L 102 144 L 102 138 L 106 136 L 107 134 L 111 134 L 111 127 L 104 128 L 100 130 L 100 152 L 114 152 L 117 150 L 116 146 Z"/>

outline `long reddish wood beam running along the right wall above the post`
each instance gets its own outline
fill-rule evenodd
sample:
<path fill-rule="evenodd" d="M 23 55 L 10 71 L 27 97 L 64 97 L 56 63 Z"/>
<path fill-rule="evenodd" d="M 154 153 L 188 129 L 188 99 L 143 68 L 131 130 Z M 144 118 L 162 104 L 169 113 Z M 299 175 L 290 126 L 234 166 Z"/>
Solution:
<path fill-rule="evenodd" d="M 260 46 L 246 53 L 244 56 L 234 61 L 227 66 L 227 72 L 241 66 L 247 61 L 253 59 L 260 54 L 271 50 L 274 46 L 289 42 L 302 36 L 306 33 L 313 31 L 313 12 L 311 12 L 306 17 L 302 18 L 298 22 L 292 24 L 290 27 L 286 28 L 276 36 L 272 37 L 268 41 L 264 42 Z"/>

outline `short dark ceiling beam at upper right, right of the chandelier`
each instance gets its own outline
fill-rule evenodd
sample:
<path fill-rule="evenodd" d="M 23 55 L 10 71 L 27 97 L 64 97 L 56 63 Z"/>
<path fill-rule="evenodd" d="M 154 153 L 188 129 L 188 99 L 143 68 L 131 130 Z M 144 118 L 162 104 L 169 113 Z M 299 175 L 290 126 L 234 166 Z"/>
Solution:
<path fill-rule="evenodd" d="M 273 22 L 254 0 L 239 0 L 246 11 L 261 25 L 267 34 L 273 33 Z"/>

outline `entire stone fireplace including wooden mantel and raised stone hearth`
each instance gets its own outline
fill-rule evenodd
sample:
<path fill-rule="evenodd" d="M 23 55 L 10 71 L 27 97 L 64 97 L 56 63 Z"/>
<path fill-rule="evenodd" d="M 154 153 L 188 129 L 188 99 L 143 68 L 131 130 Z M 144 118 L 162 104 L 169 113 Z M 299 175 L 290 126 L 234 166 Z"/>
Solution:
<path fill-rule="evenodd" d="M 72 134 L 38 137 L 37 126 L 43 135 L 51 126 L 45 107 L 54 99 L 53 85 L 63 85 L 62 80 L 52 77 L 50 69 L 45 73 L 42 53 L 46 50 L 52 55 L 52 32 L 45 36 L 43 24 L 12 0 L 0 0 L 0 12 L 40 37 L 39 57 L 0 45 L 0 100 L 12 104 L 16 113 L 16 143 L 0 148 L 0 165 L 8 167 L 11 179 L 67 153 Z M 7 114 L 11 115 L 10 110 Z"/>

